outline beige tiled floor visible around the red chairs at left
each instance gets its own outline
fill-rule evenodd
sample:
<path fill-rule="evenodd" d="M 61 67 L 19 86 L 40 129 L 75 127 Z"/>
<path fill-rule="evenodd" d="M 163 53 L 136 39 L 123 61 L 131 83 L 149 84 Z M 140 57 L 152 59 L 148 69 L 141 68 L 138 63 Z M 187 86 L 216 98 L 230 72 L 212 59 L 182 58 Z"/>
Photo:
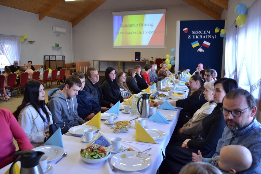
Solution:
<path fill-rule="evenodd" d="M 53 84 L 52 87 L 53 87 L 53 89 L 54 89 L 54 88 L 56 88 L 56 85 Z M 51 89 L 51 88 L 50 88 L 50 89 Z M 46 86 L 44 86 L 44 91 L 45 91 L 45 102 L 47 102 L 47 101 L 48 101 L 48 96 L 47 96 L 47 94 L 48 94 L 49 90 L 48 90 L 48 88 L 47 88 Z M 9 100 L 7 100 L 7 102 L 6 102 L 5 99 L 0 99 L 0 108 L 8 109 L 8 110 L 11 111 L 12 113 L 13 113 L 14 111 L 16 111 L 16 110 L 17 110 L 17 107 L 18 107 L 20 104 L 22 104 L 22 100 L 23 100 L 23 98 L 24 98 L 24 94 L 21 94 L 22 97 L 20 97 L 18 91 L 17 91 L 17 95 L 18 95 L 18 98 L 17 98 L 15 92 L 13 91 L 12 96 L 10 97 Z M 0 98 L 1 98 L 1 97 L 0 97 Z M 19 148 L 18 148 L 18 145 L 17 145 L 17 142 L 15 141 L 15 139 L 13 139 L 13 142 L 14 142 L 14 144 L 15 144 L 15 146 L 16 146 L 16 149 L 18 150 Z"/>

